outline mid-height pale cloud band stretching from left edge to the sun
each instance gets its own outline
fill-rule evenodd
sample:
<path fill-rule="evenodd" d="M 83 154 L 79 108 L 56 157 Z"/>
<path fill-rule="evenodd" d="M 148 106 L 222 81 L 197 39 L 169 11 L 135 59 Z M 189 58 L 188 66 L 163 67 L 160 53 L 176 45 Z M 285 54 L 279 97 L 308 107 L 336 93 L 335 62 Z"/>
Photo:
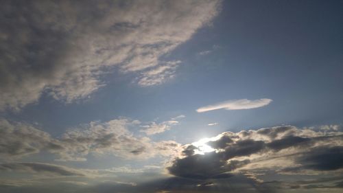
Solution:
<path fill-rule="evenodd" d="M 180 144 L 135 137 L 129 130 L 133 126 L 137 126 L 137 120 L 126 118 L 91 122 L 54 138 L 29 124 L 0 120 L 0 155 L 1 159 L 13 160 L 46 151 L 58 155 L 58 161 L 85 161 L 89 154 L 111 154 L 126 159 L 178 154 Z"/>

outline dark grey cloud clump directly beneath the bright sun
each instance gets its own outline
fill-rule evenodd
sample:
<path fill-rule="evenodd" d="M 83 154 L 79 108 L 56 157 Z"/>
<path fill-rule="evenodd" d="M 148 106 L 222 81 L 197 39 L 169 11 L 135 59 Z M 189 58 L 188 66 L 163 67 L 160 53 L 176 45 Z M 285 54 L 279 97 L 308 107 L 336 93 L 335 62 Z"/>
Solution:
<path fill-rule="evenodd" d="M 186 157 L 176 159 L 173 166 L 169 167 L 168 170 L 178 177 L 193 179 L 223 177 L 225 172 L 230 172 L 250 163 L 249 159 L 239 161 L 233 158 L 251 155 L 259 152 L 263 147 L 263 141 L 244 140 L 227 146 L 224 151 L 208 152 L 200 155 L 194 154 L 194 148 L 188 146 L 183 151 Z"/>

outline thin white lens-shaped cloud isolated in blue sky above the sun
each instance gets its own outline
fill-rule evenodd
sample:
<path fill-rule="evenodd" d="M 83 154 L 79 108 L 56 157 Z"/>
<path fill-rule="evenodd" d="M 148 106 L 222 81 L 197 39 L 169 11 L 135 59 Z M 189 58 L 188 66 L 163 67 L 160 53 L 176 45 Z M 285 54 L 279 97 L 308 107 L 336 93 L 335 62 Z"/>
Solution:
<path fill-rule="evenodd" d="M 268 98 L 261 98 L 259 100 L 247 100 L 247 99 L 228 100 L 226 102 L 220 102 L 218 104 L 200 107 L 196 111 L 198 113 L 203 113 L 206 111 L 213 111 L 217 109 L 226 109 L 226 110 L 255 109 L 255 108 L 268 105 L 270 104 L 270 102 L 272 102 L 272 100 Z"/>

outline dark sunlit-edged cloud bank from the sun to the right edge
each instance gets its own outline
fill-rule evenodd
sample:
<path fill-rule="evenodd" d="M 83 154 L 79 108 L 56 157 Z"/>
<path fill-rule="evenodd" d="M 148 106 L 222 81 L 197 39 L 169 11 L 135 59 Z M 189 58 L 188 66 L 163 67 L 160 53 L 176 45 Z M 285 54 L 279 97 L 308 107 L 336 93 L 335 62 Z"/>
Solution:
<path fill-rule="evenodd" d="M 226 132 L 185 146 L 167 168 L 191 179 L 215 179 L 223 174 L 274 171 L 320 173 L 343 170 L 343 132 L 322 132 L 294 126 Z M 204 144 L 213 148 L 201 152 Z"/>

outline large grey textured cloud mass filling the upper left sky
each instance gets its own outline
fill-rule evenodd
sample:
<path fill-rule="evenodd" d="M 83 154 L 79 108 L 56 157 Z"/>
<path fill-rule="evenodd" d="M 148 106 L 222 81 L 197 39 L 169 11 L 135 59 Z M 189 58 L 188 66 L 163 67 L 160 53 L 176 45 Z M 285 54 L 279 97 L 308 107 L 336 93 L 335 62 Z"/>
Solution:
<path fill-rule="evenodd" d="M 0 109 L 43 93 L 73 102 L 134 73 L 146 87 L 174 77 L 163 56 L 217 15 L 220 1 L 5 1 L 0 8 Z"/>

